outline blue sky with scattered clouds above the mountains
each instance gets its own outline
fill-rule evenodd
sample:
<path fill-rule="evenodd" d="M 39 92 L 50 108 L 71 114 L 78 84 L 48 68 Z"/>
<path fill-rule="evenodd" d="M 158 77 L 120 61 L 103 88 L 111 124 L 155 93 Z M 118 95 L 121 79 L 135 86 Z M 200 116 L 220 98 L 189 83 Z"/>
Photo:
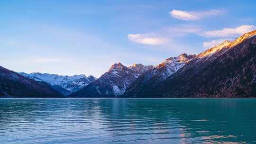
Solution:
<path fill-rule="evenodd" d="M 0 1 L 0 65 L 101 76 L 113 63 L 155 65 L 256 29 L 255 0 Z"/>

